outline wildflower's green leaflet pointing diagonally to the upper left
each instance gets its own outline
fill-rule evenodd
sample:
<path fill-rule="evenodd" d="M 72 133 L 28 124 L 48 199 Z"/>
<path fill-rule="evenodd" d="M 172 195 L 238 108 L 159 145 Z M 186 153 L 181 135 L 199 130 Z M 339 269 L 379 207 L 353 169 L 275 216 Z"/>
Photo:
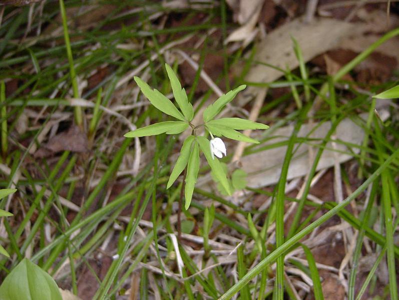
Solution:
<path fill-rule="evenodd" d="M 137 76 L 134 77 L 134 80 L 140 87 L 143 94 L 150 100 L 151 104 L 153 104 L 162 112 L 184 121 L 183 114 L 179 110 L 177 110 L 172 101 L 169 100 L 165 95 L 163 95 L 159 90 L 155 88 L 151 89 L 151 87 L 146 82 L 144 82 Z"/>

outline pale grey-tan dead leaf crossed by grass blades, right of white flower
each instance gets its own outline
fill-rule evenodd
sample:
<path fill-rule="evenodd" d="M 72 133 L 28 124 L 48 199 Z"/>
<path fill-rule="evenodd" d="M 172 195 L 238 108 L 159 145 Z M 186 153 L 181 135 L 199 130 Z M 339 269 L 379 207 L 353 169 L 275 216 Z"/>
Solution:
<path fill-rule="evenodd" d="M 386 111 L 382 109 L 383 111 Z M 367 115 L 360 115 L 363 119 L 366 119 Z M 386 114 L 385 114 L 386 117 Z M 331 123 L 324 122 L 322 124 L 304 124 L 297 133 L 298 137 L 308 137 L 311 139 L 321 140 L 325 137 L 327 131 L 330 129 Z M 288 140 L 293 130 L 293 125 L 281 127 L 274 131 L 266 131 L 267 135 L 273 135 L 274 138 L 262 143 L 262 147 L 281 141 Z M 309 132 L 311 132 L 309 134 Z M 360 145 L 364 130 L 358 126 L 350 118 L 343 119 L 336 127 L 335 135 L 337 140 L 343 142 L 353 143 Z M 256 135 L 253 136 L 256 138 Z M 260 136 L 258 136 L 259 138 Z M 342 143 L 337 143 L 336 149 L 339 152 L 329 150 L 332 149 L 331 142 L 327 143 L 326 149 L 323 151 L 317 170 L 324 169 L 334 165 L 336 159 L 339 163 L 347 161 L 352 158 L 352 155 L 348 151 L 347 147 Z M 351 149 L 354 153 L 359 152 L 358 147 Z M 255 152 L 241 158 L 242 169 L 247 172 L 248 186 L 258 188 L 263 186 L 273 185 L 278 182 L 281 173 L 281 165 L 283 163 L 286 152 L 286 146 L 270 148 L 264 151 Z M 309 161 L 309 145 L 301 144 L 295 151 L 294 156 L 290 162 L 288 168 L 287 179 L 291 180 L 296 177 L 301 177 L 309 172 L 311 167 Z M 233 162 L 234 163 L 234 162 Z M 232 165 L 231 165 L 232 167 Z M 206 190 L 211 189 L 209 181 L 211 180 L 210 175 L 205 175 L 198 179 L 198 186 Z"/>

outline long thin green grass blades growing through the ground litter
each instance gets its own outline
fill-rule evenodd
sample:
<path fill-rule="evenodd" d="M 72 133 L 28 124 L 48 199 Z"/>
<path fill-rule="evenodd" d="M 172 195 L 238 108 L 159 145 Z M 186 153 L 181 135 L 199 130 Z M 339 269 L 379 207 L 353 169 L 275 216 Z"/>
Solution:
<path fill-rule="evenodd" d="M 132 276 L 138 274 L 140 283 L 135 291 L 143 298 L 159 294 L 172 299 L 229 299 L 238 295 L 240 299 L 280 300 L 294 298 L 300 289 L 291 284 L 293 278 L 301 279 L 287 272 L 289 266 L 306 273 L 313 282 L 310 293 L 322 299 L 324 278 L 319 275 L 319 257 L 305 242 L 308 234 L 317 228 L 321 230 L 321 225 L 329 226 L 329 221 L 336 217 L 357 232 L 356 239 L 350 241 L 354 242 L 354 251 L 344 269 L 348 298 L 358 299 L 378 286 L 381 290 L 386 288 L 391 299 L 397 299 L 397 120 L 378 120 L 374 113 L 378 100 L 371 100 L 367 93 L 356 89 L 358 82 L 349 82 L 345 90 L 339 84 L 344 74 L 354 72 L 361 61 L 396 36 L 399 29 L 383 35 L 331 77 L 313 72 L 294 40 L 298 69 L 280 69 L 280 79 L 255 83 L 245 82 L 245 74 L 253 65 L 263 63 L 254 61 L 256 45 L 228 53 L 229 45 L 223 44 L 222 37 L 235 26 L 225 2 L 214 7 L 179 10 L 146 3 L 146 9 L 126 14 L 120 13 L 126 11 L 127 4 L 113 4 L 112 13 L 89 23 L 85 23 L 88 15 L 79 10 L 80 1 L 48 1 L 41 16 L 36 5 L 38 14 L 26 39 L 22 37 L 27 29 L 29 7 L 5 8 L 0 27 L 0 185 L 16 187 L 18 192 L 11 202 L 8 198 L 0 201 L 0 208 L 7 207 L 14 214 L 2 220 L 7 233 L 0 242 L 12 258 L 0 257 L 0 281 L 23 257 L 30 256 L 74 293 L 79 290 L 82 269 L 88 268 L 93 284 L 98 284 L 96 299 L 118 298 L 131 287 Z M 101 7 L 99 4 L 97 8 Z M 129 7 L 144 7 L 143 1 L 131 1 Z M 71 12 L 73 8 L 75 13 Z M 19 13 L 13 14 L 14 9 L 19 9 Z M 172 18 L 176 20 L 174 26 Z M 36 35 L 39 21 L 42 33 Z M 45 34 L 46 28 L 53 29 Z M 212 34 L 212 30 L 220 30 L 220 36 Z M 182 38 L 190 36 L 203 38 L 203 44 L 193 48 L 195 43 L 182 42 Z M 269 149 L 282 149 L 284 154 L 276 185 L 271 189 L 248 188 L 242 201 L 232 201 L 216 189 L 197 186 L 192 208 L 181 215 L 183 220 L 193 222 L 193 228 L 178 241 L 177 249 L 171 234 L 178 235 L 175 204 L 183 186 L 181 178 L 170 189 L 166 189 L 166 184 L 180 140 L 177 136 L 161 135 L 156 139 L 141 138 L 139 146 L 135 139 L 123 138 L 131 129 L 126 126 L 126 119 L 137 127 L 166 120 L 147 106 L 131 72 L 135 70 L 134 75 L 165 94 L 170 93 L 163 68 L 165 61 L 173 65 L 180 80 L 186 79 L 181 57 L 174 48 L 198 56 L 199 69 L 192 72 L 192 85 L 185 86 L 195 113 L 213 96 L 210 88 L 196 92 L 201 85 L 201 70 L 209 67 L 205 60 L 209 53 L 223 53 L 223 67 L 215 82 L 223 83 L 225 91 L 229 85 L 234 88 L 242 83 L 268 87 L 258 121 L 271 127 L 259 136 L 261 143 L 248 146 L 244 155 L 261 155 Z M 234 82 L 229 80 L 233 69 L 239 70 L 234 73 Z M 103 75 L 99 75 L 101 70 Z M 397 78 L 392 77 L 394 80 Z M 390 83 L 364 89 L 377 92 Z M 273 98 L 273 89 L 284 92 Z M 84 98 L 93 106 L 73 106 L 69 98 Z M 320 101 L 316 103 L 320 109 L 310 117 L 309 110 L 315 101 Z M 116 111 L 126 119 L 103 110 L 141 102 L 143 105 Z M 251 104 L 244 109 L 251 109 Z M 396 110 L 391 108 L 392 116 Z M 359 117 L 362 112 L 367 113 L 366 119 Z M 335 128 L 345 118 L 363 129 L 364 139 L 361 144 L 354 144 L 338 137 L 334 141 L 346 149 L 336 150 L 330 142 Z M 331 122 L 331 128 L 320 138 L 298 137 L 299 130 L 309 121 L 314 123 L 313 131 L 326 122 Z M 35 156 L 35 149 L 43 149 L 52 134 L 57 135 L 72 124 L 79 125 L 86 136 L 88 152 L 65 149 L 45 158 Z M 275 134 L 276 130 L 287 125 L 293 128 L 291 134 L 277 139 L 281 136 Z M 287 195 L 288 170 L 303 144 L 312 147 L 314 158 L 303 178 L 301 194 L 295 198 Z M 224 161 L 231 159 L 233 148 L 229 148 Z M 327 150 L 352 156 L 349 162 L 341 164 L 340 172 L 343 186 L 352 192 L 340 203 L 319 204 L 311 198 L 311 186 Z M 138 162 L 139 168 L 134 169 Z M 351 165 L 356 168 L 350 168 Z M 209 167 L 202 164 L 201 176 L 208 171 Z M 349 178 L 358 178 L 359 183 L 351 184 Z M 269 201 L 262 210 L 252 207 L 257 197 Z M 75 206 L 67 205 L 72 202 Z M 215 206 L 214 219 L 211 203 Z M 292 204 L 296 208 L 287 222 L 287 207 Z M 74 211 L 76 205 L 78 211 Z M 359 269 L 364 239 L 378 255 L 366 278 Z M 292 251 L 300 254 L 286 259 Z M 99 254 L 117 254 L 104 278 L 99 278 L 90 265 Z M 299 263 L 296 257 L 306 258 L 307 264 Z M 181 270 L 178 258 L 184 264 Z M 380 263 L 388 268 L 386 287 L 381 286 L 375 274 Z M 357 290 L 355 286 L 362 278 L 365 281 Z"/>

